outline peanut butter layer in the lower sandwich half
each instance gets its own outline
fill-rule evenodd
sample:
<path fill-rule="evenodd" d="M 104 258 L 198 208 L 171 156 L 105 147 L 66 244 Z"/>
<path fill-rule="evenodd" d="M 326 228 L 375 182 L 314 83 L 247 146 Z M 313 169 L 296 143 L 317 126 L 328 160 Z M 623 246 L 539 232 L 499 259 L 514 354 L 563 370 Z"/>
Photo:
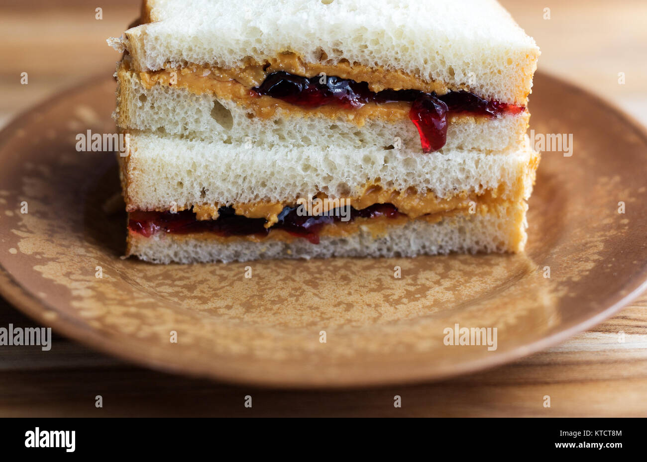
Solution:
<path fill-rule="evenodd" d="M 443 213 L 448 211 L 476 209 L 488 205 L 503 202 L 500 198 L 501 191 L 488 190 L 482 194 L 468 193 L 462 191 L 449 198 L 439 198 L 432 191 L 418 193 L 415 188 L 408 188 L 406 191 L 395 191 L 382 188 L 380 185 L 368 185 L 363 191 L 348 198 L 329 198 L 324 193 L 318 193 L 313 197 L 314 202 L 318 199 L 318 208 L 313 207 L 313 215 L 321 215 L 337 207 L 351 206 L 355 209 L 366 209 L 373 204 L 393 204 L 398 211 L 404 213 L 411 219 L 424 215 Z M 265 227 L 271 227 L 278 222 L 278 215 L 284 207 L 296 205 L 307 206 L 306 198 L 296 198 L 283 202 L 248 202 L 234 204 L 204 204 L 193 205 L 193 212 L 197 220 L 215 220 L 218 217 L 218 209 L 222 205 L 231 205 L 236 215 L 247 216 L 247 218 L 265 218 Z M 184 208 L 188 209 L 191 205 Z"/>

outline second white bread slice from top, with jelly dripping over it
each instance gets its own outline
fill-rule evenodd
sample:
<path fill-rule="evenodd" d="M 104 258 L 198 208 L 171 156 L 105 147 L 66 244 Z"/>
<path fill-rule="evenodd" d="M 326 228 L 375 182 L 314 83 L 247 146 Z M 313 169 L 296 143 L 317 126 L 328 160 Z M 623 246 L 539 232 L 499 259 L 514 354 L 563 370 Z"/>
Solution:
<path fill-rule="evenodd" d="M 137 72 L 120 67 L 117 72 L 117 125 L 126 130 L 159 131 L 185 138 L 218 140 L 225 143 L 253 143 L 256 146 L 289 145 L 311 147 L 388 147 L 421 152 L 420 136 L 408 117 L 389 121 L 370 119 L 364 125 L 313 110 L 307 117 L 294 117 L 278 109 L 270 118 L 250 118 L 250 110 L 228 98 L 194 94 L 179 87 L 155 85 L 146 89 Z M 439 151 L 516 149 L 527 129 L 530 114 L 498 118 L 456 115 L 450 117 L 447 142 Z"/>

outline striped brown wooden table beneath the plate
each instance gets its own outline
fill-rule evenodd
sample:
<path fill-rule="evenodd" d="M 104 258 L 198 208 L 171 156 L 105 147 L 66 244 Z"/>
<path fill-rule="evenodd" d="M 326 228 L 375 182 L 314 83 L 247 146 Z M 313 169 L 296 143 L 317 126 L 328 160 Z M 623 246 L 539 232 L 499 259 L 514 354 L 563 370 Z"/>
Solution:
<path fill-rule="evenodd" d="M 642 0 L 502 2 L 542 47 L 540 68 L 597 92 L 647 123 L 647 3 Z M 0 6 L 0 125 L 118 59 L 105 37 L 137 16 L 134 1 L 5 0 Z M 10 58 L 6 58 L 10 57 Z M 19 84 L 28 72 L 27 87 Z M 626 84 L 617 83 L 625 73 Z M 371 390 L 259 390 L 131 366 L 54 337 L 0 347 L 0 416 L 372 415 L 646 416 L 647 296 L 564 344 L 522 361 L 449 381 Z M 0 326 L 34 326 L 0 299 Z M 624 343 L 618 332 L 624 331 Z M 243 406 L 252 395 L 254 408 Z M 393 395 L 402 408 L 393 408 Z M 94 407 L 102 395 L 104 407 Z M 551 396 L 551 408 L 543 396 Z"/>

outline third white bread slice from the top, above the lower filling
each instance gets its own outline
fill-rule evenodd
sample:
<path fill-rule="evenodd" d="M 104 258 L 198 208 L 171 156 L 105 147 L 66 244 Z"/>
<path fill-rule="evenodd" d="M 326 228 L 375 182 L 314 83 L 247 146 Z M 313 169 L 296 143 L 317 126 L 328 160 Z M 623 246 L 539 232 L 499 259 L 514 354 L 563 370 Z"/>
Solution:
<path fill-rule="evenodd" d="M 148 132 L 131 133 L 129 155 L 120 158 L 128 211 L 294 201 L 318 192 L 347 198 L 372 183 L 439 198 L 498 191 L 517 201 L 530 195 L 538 161 L 527 138 L 516 151 L 412 154 L 336 145 L 259 149 Z"/>

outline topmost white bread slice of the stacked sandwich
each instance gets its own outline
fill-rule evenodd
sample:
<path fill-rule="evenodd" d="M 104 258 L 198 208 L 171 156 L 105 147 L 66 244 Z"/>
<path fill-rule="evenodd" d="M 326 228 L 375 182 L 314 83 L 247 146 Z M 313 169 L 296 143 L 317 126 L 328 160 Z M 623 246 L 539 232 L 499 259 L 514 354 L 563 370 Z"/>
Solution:
<path fill-rule="evenodd" d="M 290 51 L 309 63 L 402 70 L 526 105 L 540 54 L 494 0 L 147 0 L 144 22 L 109 39 L 136 70 L 236 68 Z"/>

